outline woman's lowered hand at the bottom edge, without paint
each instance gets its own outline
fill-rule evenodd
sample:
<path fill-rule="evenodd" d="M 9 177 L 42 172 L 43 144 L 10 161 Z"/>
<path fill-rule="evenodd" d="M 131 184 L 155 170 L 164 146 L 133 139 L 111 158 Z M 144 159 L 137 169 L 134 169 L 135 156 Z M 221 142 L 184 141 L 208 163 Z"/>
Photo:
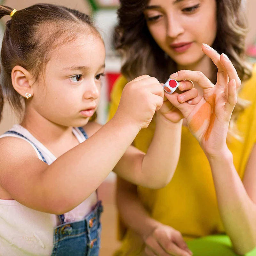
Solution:
<path fill-rule="evenodd" d="M 191 256 L 182 235 L 176 229 L 162 223 L 144 238 L 145 255 L 147 256 Z"/>

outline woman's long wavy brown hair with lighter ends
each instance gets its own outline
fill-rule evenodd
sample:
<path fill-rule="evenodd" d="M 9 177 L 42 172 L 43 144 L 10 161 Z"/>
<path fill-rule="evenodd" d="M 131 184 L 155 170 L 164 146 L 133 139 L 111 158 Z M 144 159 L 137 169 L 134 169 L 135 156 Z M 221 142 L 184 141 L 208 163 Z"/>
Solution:
<path fill-rule="evenodd" d="M 122 74 L 132 80 L 148 74 L 164 83 L 169 75 L 177 71 L 176 63 L 156 44 L 151 36 L 144 9 L 149 0 L 120 0 L 118 25 L 115 29 L 114 44 L 124 57 Z M 216 0 L 217 36 L 212 47 L 226 53 L 237 70 L 241 81 L 252 76 L 252 67 L 245 60 L 245 36 L 247 31 L 244 0 Z M 216 76 L 215 76 L 216 77 Z M 213 81 L 216 82 L 216 81 Z M 241 90 L 242 86 L 240 87 Z M 240 139 L 235 132 L 237 115 L 249 105 L 247 100 L 238 98 L 230 122 L 229 132 Z"/>

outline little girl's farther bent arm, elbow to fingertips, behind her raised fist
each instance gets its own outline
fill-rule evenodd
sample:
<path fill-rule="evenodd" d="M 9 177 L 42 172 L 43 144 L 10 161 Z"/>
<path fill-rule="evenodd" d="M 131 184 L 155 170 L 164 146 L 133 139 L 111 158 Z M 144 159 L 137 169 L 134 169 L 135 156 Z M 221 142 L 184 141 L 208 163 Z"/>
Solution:
<path fill-rule="evenodd" d="M 179 88 L 186 91 L 176 96 L 180 109 L 188 100 L 197 100 L 198 91 L 189 81 L 180 82 Z M 184 97 L 181 101 L 181 96 Z M 172 179 L 180 156 L 181 126 L 183 116 L 165 98 L 163 106 L 156 113 L 156 129 L 147 154 L 130 147 L 120 159 L 114 172 L 134 184 L 144 187 L 162 188 Z"/>

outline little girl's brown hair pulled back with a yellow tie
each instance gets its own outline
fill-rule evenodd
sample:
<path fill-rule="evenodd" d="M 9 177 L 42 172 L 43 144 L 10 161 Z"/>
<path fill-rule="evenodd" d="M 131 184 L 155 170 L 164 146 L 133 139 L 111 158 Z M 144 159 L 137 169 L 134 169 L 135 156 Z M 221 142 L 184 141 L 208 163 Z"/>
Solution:
<path fill-rule="evenodd" d="M 12 10 L 0 5 L 0 19 Z M 19 116 L 23 113 L 24 98 L 12 86 L 12 68 L 20 65 L 38 79 L 52 49 L 74 40 L 79 33 L 100 37 L 88 15 L 64 6 L 35 4 L 14 13 L 6 22 L 1 50 L 0 118 L 4 98 Z"/>

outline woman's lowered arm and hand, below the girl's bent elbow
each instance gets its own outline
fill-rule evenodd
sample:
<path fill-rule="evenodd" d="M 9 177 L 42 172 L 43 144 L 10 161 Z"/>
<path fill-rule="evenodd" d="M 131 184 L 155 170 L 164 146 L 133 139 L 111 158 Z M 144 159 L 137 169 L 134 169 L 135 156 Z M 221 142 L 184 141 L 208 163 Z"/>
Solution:
<path fill-rule="evenodd" d="M 116 198 L 121 219 L 141 237 L 147 255 L 192 255 L 179 231 L 149 216 L 138 198 L 137 186 L 118 178 Z"/>

